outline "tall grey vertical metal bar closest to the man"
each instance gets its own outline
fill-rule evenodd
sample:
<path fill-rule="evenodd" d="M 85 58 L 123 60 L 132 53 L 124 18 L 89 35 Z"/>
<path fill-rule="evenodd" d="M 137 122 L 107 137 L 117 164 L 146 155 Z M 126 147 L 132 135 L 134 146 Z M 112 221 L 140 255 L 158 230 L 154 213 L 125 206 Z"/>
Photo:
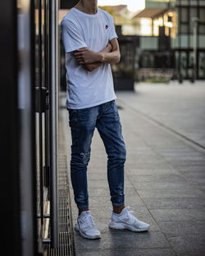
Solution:
<path fill-rule="evenodd" d="M 51 169 L 51 240 L 58 247 L 58 0 L 50 2 L 50 169 Z"/>

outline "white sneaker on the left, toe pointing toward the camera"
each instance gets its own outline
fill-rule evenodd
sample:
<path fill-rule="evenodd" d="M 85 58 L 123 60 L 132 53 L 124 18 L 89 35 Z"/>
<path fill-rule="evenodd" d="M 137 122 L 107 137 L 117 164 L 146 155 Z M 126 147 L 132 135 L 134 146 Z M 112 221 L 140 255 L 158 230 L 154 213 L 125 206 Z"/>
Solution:
<path fill-rule="evenodd" d="M 75 224 L 75 231 L 78 231 L 81 236 L 88 239 L 100 238 L 100 231 L 93 222 L 93 216 L 91 216 L 90 211 L 84 211 L 77 218 L 77 223 Z"/>

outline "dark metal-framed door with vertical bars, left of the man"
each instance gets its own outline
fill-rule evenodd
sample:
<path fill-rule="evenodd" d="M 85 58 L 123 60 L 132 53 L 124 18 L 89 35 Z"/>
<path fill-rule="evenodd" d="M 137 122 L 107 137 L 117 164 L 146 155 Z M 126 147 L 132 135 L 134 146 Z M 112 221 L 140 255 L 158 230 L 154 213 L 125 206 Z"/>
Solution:
<path fill-rule="evenodd" d="M 35 1 L 39 247 L 58 246 L 58 2 Z"/>

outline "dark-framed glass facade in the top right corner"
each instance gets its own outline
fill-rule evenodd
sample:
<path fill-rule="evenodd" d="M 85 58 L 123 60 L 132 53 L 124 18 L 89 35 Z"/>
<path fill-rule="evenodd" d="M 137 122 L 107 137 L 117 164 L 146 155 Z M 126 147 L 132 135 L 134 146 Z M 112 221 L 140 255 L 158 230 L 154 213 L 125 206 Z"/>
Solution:
<path fill-rule="evenodd" d="M 175 11 L 178 30 L 173 48 L 179 54 L 178 71 L 184 78 L 190 79 L 196 69 L 198 79 L 204 79 L 205 1 L 177 0 Z"/>

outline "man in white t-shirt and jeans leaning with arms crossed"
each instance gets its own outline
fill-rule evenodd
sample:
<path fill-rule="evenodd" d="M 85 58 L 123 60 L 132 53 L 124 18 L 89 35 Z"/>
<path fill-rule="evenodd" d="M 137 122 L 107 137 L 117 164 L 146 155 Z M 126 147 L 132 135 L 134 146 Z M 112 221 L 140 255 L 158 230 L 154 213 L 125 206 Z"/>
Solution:
<path fill-rule="evenodd" d="M 113 206 L 109 227 L 147 231 L 125 207 L 125 143 L 113 89 L 112 63 L 121 54 L 112 16 L 97 7 L 98 0 L 80 0 L 63 17 L 62 40 L 66 51 L 66 107 L 71 126 L 71 182 L 79 217 L 75 231 L 89 239 L 100 232 L 89 211 L 87 166 L 90 144 L 97 127 L 107 152 L 107 180 Z"/>

